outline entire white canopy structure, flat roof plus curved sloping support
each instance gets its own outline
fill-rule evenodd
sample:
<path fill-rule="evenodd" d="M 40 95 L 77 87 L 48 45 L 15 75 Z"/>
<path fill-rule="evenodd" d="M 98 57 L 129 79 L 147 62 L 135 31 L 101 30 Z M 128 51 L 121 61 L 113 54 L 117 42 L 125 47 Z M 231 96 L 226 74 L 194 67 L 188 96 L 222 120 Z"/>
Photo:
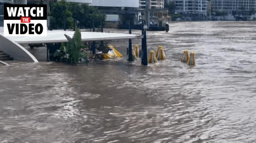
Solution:
<path fill-rule="evenodd" d="M 14 60 L 38 62 L 37 59 L 20 44 L 68 42 L 64 34 L 72 37 L 74 31 L 47 31 L 47 36 L 4 36 L 4 33 L 0 33 L 0 51 L 4 51 Z M 128 40 L 140 38 L 140 35 L 135 34 L 99 32 L 81 32 L 81 36 L 82 41 Z"/>

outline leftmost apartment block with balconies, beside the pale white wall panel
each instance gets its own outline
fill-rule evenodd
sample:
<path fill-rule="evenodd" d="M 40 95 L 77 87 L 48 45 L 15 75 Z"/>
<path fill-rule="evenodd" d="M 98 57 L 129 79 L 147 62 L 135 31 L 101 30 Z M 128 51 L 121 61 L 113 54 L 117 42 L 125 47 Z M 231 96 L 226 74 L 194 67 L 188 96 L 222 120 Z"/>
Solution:
<path fill-rule="evenodd" d="M 163 9 L 164 0 L 148 0 L 149 9 Z M 140 9 L 146 9 L 146 0 L 140 0 Z"/>

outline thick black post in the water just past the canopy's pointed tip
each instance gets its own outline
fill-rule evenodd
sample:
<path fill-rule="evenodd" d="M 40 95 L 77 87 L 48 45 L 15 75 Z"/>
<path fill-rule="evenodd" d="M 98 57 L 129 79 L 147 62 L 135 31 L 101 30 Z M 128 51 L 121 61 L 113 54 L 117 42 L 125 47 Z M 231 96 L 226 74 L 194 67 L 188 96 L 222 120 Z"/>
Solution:
<path fill-rule="evenodd" d="M 143 28 L 144 28 L 144 27 L 143 27 Z M 142 50 L 141 64 L 142 64 L 142 65 L 148 65 L 146 28 L 143 29 L 143 38 L 142 38 L 141 50 Z"/>

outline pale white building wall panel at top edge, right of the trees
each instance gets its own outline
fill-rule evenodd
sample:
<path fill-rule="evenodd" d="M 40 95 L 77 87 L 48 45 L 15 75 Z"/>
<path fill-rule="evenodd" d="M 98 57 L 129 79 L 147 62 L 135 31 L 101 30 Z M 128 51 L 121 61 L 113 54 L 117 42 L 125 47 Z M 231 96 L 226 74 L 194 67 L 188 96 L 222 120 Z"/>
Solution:
<path fill-rule="evenodd" d="M 139 7 L 139 0 L 92 0 L 92 6 Z"/>

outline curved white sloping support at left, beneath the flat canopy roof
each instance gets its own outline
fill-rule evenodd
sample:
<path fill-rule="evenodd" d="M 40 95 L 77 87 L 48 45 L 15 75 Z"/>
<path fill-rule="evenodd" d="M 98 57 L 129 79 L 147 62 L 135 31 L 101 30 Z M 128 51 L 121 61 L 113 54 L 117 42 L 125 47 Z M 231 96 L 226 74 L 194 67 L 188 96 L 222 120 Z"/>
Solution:
<path fill-rule="evenodd" d="M 9 40 L 0 34 L 0 51 L 4 51 L 14 60 L 38 62 L 37 59 L 18 43 Z"/>

